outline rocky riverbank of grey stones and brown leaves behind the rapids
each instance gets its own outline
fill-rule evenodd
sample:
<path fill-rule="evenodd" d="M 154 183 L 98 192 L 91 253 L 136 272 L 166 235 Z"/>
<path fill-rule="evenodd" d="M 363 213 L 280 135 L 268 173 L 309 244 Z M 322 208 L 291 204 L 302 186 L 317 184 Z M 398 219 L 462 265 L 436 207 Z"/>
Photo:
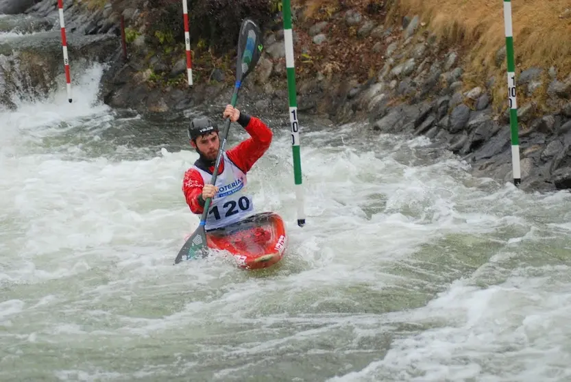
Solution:
<path fill-rule="evenodd" d="M 83 27 L 84 33 L 119 35 L 119 14 L 109 5 L 95 11 L 80 5 L 66 14 L 71 25 Z M 42 1 L 27 12 L 45 14 L 44 8 L 55 10 Z M 165 35 L 157 49 L 145 25 L 148 12 L 149 2 L 123 10 L 130 58 L 123 62 L 117 47 L 101 84 L 102 99 L 112 107 L 159 114 L 227 103 L 235 59 L 197 47 L 197 77 L 190 88 L 184 43 Z M 571 12 L 561 12 L 567 23 Z M 294 17 L 300 112 L 337 124 L 362 121 L 380 133 L 424 135 L 461 155 L 476 175 L 512 181 L 503 47 L 494 51 L 491 63 L 502 75 L 478 78 L 465 60 L 467 47 L 446 42 L 420 16 L 402 14 L 385 2 L 324 5 L 309 16 L 297 6 Z M 95 29 L 88 27 L 92 24 Z M 263 58 L 241 92 L 239 103 L 250 113 L 287 110 L 281 26 L 277 14 L 266 28 Z M 557 66 L 519 64 L 521 188 L 571 188 L 571 73 Z"/>

